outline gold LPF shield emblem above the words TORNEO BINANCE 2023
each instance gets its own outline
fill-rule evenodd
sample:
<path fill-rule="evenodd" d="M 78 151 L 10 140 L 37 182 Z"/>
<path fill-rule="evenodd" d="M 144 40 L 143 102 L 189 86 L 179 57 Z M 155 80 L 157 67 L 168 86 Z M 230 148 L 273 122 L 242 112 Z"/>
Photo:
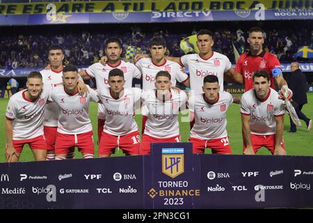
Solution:
<path fill-rule="evenodd" d="M 184 148 L 162 148 L 162 173 L 171 178 L 184 173 Z"/>

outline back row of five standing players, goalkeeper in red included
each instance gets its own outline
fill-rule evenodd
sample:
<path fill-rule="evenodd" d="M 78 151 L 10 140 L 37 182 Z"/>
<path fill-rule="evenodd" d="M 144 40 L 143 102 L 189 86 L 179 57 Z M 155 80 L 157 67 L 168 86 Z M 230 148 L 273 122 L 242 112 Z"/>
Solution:
<path fill-rule="evenodd" d="M 267 70 L 271 76 L 271 84 L 276 82 L 279 87 L 287 89 L 287 84 L 282 77 L 280 63 L 272 54 L 268 54 L 262 50 L 264 43 L 262 30 L 253 28 L 249 32 L 248 43 L 250 44 L 250 53 L 241 55 L 239 62 L 236 64 L 236 70 L 231 67 L 229 59 L 223 54 L 212 51 L 214 45 L 213 35 L 210 31 L 201 30 L 198 33 L 197 45 L 200 49 L 199 54 L 189 54 L 181 58 L 172 58 L 164 56 L 166 52 L 166 44 L 162 38 L 153 38 L 150 40 L 150 53 L 152 58 L 140 59 L 136 62 L 136 66 L 120 60 L 122 48 L 120 41 L 115 38 L 106 40 L 105 52 L 107 55 L 106 64 L 95 63 L 86 70 L 79 72 L 81 77 L 95 77 L 97 89 L 102 89 L 108 84 L 108 74 L 113 68 L 120 68 L 125 74 L 125 89 L 131 86 L 133 78 L 143 79 L 143 89 L 151 89 L 154 87 L 155 74 L 159 70 L 168 71 L 171 75 L 172 85 L 175 86 L 176 80 L 184 83 L 186 86 L 191 85 L 191 90 L 195 94 L 201 93 L 203 79 L 207 75 L 216 75 L 218 82 L 223 83 L 223 77 L 229 82 L 239 82 L 245 84 L 246 91 L 251 89 L 252 73 L 255 70 Z M 54 84 L 62 82 L 62 61 L 64 59 L 61 47 L 54 45 L 49 49 L 50 70 L 43 70 L 43 82 L 47 86 L 53 88 Z M 177 61 L 179 63 L 175 63 Z M 190 70 L 190 80 L 188 75 L 181 71 L 180 65 L 188 66 Z M 274 78 L 275 77 L 275 78 Z M 220 92 L 223 91 L 223 84 L 220 85 Z M 284 91 L 285 98 L 290 99 L 292 92 L 287 89 Z M 47 137 L 48 160 L 54 159 L 54 147 L 56 132 L 58 126 L 58 106 L 54 103 L 47 106 L 45 112 L 44 130 Z M 103 107 L 99 106 L 98 112 L 98 134 L 102 132 L 104 120 L 102 119 Z M 102 133 L 101 133 L 102 134 Z M 67 157 L 71 157 L 74 153 L 70 153 Z"/>

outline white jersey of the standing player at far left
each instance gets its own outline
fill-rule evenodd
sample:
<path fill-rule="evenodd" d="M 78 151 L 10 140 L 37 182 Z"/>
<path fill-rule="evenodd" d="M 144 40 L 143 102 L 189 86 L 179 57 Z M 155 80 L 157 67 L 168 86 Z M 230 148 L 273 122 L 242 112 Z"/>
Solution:
<path fill-rule="evenodd" d="M 63 71 L 57 72 L 55 70 L 42 70 L 40 71 L 42 75 L 42 82 L 44 83 L 44 88 L 54 89 L 56 84 L 62 83 Z M 58 126 L 58 113 L 59 107 L 55 102 L 51 102 L 47 105 L 45 111 L 44 125 L 50 127 Z"/>

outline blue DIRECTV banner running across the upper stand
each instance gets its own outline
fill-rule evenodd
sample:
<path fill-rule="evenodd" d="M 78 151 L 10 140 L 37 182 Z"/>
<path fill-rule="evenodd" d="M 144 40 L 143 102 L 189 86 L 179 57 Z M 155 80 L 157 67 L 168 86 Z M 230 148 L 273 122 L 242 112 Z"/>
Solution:
<path fill-rule="evenodd" d="M 88 23 L 149 23 L 251 20 L 312 20 L 312 9 L 294 10 L 200 10 L 150 13 L 58 13 L 47 15 L 0 15 L 0 26 Z"/>

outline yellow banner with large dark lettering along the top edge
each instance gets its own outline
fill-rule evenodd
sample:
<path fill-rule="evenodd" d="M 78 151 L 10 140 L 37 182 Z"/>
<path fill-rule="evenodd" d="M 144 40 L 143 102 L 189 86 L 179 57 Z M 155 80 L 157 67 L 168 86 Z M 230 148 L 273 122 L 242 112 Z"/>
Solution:
<path fill-rule="evenodd" d="M 51 10 L 56 13 L 151 13 L 208 10 L 256 10 L 258 4 L 265 10 L 312 9 L 312 0 L 232 0 L 232 1 L 75 1 L 42 3 L 0 3 L 0 15 L 38 15 Z"/>

